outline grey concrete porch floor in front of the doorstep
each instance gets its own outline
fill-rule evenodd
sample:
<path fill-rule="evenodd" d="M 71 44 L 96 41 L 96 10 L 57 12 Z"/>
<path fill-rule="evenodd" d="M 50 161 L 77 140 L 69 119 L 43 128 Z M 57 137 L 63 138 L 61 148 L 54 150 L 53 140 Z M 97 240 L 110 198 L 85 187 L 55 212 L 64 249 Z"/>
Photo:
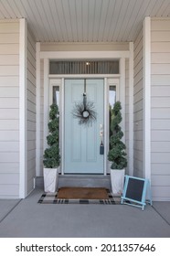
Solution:
<path fill-rule="evenodd" d="M 35 189 L 23 200 L 0 200 L 1 238 L 170 238 L 170 202 L 127 205 L 42 205 Z"/>

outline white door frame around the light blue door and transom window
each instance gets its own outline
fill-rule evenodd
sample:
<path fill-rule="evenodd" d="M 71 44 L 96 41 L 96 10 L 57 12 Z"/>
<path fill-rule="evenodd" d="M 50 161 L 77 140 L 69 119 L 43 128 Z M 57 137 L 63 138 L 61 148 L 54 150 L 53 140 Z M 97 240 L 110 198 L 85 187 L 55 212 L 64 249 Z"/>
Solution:
<path fill-rule="evenodd" d="M 130 43 L 130 47 L 131 47 L 132 43 Z M 130 48 L 131 49 L 131 48 Z M 120 74 L 119 75 L 87 75 L 84 76 L 85 78 L 103 78 L 104 79 L 104 84 L 107 85 L 107 80 L 109 79 L 118 79 L 120 80 L 120 86 L 119 86 L 119 100 L 122 101 L 122 130 L 124 131 L 124 127 L 125 127 L 125 59 L 130 59 L 130 63 L 132 63 L 133 58 L 132 58 L 132 54 L 131 54 L 132 50 L 125 50 L 125 51 L 40 51 L 38 53 L 38 58 L 39 59 L 43 59 L 44 60 L 44 95 L 46 95 L 46 97 L 44 98 L 44 148 L 46 148 L 47 146 L 47 142 L 46 142 L 46 136 L 48 134 L 48 128 L 47 128 L 47 124 L 48 123 L 48 107 L 49 107 L 49 91 L 48 91 L 48 85 L 49 85 L 49 80 L 51 79 L 60 79 L 61 80 L 61 95 L 62 95 L 62 106 L 61 109 L 63 109 L 64 107 L 64 99 L 63 99 L 63 95 L 64 95 L 64 79 L 65 78 L 81 78 L 82 75 L 65 75 L 65 76 L 61 76 L 61 75 L 49 75 L 48 70 L 49 70 L 49 59 L 120 59 Z M 40 63 L 40 61 L 39 61 Z M 132 65 L 129 65 L 129 68 L 132 67 Z M 129 70 L 129 74 L 130 74 L 130 78 L 132 78 L 132 70 Z M 40 64 L 39 64 L 39 69 L 37 70 L 37 76 L 39 76 L 39 80 L 40 80 Z M 130 79 L 130 84 L 131 84 L 131 88 L 133 88 L 133 79 Z M 40 87 L 40 84 L 38 85 Z M 37 97 L 40 97 L 40 90 L 38 89 L 37 86 Z M 105 90 L 107 88 L 108 90 L 108 86 L 104 87 Z M 106 92 L 104 93 L 104 101 L 108 102 L 107 100 L 107 94 Z M 40 106 L 39 106 L 40 109 Z M 105 107 L 105 112 L 106 112 L 106 107 Z M 131 115 L 133 115 L 133 101 L 130 102 L 130 113 Z M 61 113 L 62 114 L 62 113 Z M 106 125 L 106 118 L 105 118 L 105 125 Z M 63 118 L 61 121 L 62 126 L 64 125 L 63 123 Z M 39 123 L 40 125 L 40 123 Z M 62 129 L 61 129 L 62 130 Z M 37 131 L 37 133 L 40 133 L 40 131 Z M 131 141 L 129 141 L 129 151 L 133 152 L 133 130 L 129 131 L 129 133 L 131 133 Z M 106 129 L 104 129 L 104 136 L 106 136 Z M 61 139 L 63 140 L 63 134 L 61 134 Z M 106 140 L 105 140 L 105 149 L 106 149 Z M 37 149 L 38 151 L 38 149 Z M 39 149 L 40 151 L 40 149 Z M 129 153 L 130 153 L 129 152 Z M 61 146 L 61 155 L 63 154 L 63 148 Z M 131 154 L 133 155 L 133 154 Z M 105 154 L 105 162 L 104 162 L 104 174 L 107 174 L 107 163 L 108 161 L 107 159 L 107 154 Z M 133 158 L 129 159 L 131 161 L 130 165 L 133 166 Z M 62 159 L 61 159 L 61 165 L 63 165 L 62 163 Z M 40 171 L 38 172 L 40 173 Z M 63 173 L 62 173 L 63 174 Z"/>

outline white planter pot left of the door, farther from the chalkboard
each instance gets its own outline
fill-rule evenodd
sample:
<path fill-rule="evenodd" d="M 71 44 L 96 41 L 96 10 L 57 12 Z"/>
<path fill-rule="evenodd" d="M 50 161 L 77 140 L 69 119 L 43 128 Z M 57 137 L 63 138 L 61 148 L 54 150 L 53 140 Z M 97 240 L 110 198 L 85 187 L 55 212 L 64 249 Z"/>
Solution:
<path fill-rule="evenodd" d="M 44 190 L 45 192 L 54 193 L 58 187 L 58 169 L 44 168 Z"/>

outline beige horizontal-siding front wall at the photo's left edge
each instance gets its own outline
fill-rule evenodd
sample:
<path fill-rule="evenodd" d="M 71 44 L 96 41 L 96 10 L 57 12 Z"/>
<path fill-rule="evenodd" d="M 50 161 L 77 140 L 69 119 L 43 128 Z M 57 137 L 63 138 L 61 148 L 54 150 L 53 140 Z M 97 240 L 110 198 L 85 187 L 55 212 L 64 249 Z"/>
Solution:
<path fill-rule="evenodd" d="M 0 21 L 0 197 L 19 197 L 19 22 Z"/>

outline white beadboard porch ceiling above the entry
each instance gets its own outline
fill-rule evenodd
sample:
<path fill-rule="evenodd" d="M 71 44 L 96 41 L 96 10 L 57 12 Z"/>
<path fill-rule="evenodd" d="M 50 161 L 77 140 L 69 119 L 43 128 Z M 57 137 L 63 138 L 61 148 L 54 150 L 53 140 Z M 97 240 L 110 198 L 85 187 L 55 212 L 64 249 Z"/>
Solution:
<path fill-rule="evenodd" d="M 144 16 L 170 16 L 170 0 L 0 0 L 0 19 L 27 18 L 37 41 L 133 41 Z"/>

